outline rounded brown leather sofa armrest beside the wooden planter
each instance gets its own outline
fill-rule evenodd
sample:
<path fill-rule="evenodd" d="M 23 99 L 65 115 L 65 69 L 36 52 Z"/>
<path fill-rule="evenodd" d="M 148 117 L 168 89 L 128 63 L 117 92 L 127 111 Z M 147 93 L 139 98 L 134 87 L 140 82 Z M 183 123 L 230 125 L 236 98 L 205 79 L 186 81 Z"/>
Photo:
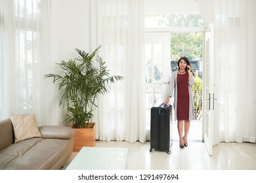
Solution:
<path fill-rule="evenodd" d="M 72 127 L 45 125 L 38 129 L 44 139 L 72 139 L 75 136 L 75 130 Z"/>

